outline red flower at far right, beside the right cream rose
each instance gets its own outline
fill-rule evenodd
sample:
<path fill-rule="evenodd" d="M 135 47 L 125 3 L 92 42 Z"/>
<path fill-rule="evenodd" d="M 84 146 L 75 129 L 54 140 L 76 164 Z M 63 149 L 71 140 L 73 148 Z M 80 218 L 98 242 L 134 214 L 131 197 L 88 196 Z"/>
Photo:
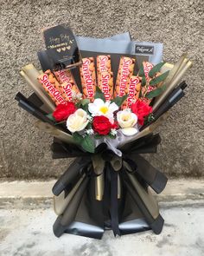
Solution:
<path fill-rule="evenodd" d="M 131 111 L 137 115 L 138 123 L 143 125 L 144 117 L 152 112 L 152 108 L 146 102 L 138 100 L 131 104 Z"/>

